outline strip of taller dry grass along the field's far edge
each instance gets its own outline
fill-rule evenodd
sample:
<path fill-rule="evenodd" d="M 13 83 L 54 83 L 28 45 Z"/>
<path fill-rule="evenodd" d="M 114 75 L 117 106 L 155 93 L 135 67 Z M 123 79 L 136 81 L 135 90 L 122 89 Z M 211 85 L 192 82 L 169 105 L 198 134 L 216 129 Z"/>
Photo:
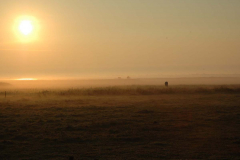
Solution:
<path fill-rule="evenodd" d="M 156 85 L 131 85 L 131 86 L 110 86 L 94 88 L 71 88 L 71 89 L 9 89 L 8 95 L 38 95 L 38 96 L 102 96 L 102 95 L 159 95 L 159 94 L 216 94 L 232 93 L 240 94 L 240 85 L 222 86 L 184 86 L 164 87 Z M 4 95 L 5 91 L 0 91 Z"/>

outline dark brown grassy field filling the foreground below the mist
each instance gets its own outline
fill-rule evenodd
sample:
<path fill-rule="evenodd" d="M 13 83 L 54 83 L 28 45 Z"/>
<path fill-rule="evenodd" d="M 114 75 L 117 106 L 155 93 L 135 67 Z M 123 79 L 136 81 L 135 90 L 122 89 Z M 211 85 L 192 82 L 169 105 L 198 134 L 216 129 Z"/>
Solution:
<path fill-rule="evenodd" d="M 239 159 L 240 86 L 0 90 L 0 159 Z"/>

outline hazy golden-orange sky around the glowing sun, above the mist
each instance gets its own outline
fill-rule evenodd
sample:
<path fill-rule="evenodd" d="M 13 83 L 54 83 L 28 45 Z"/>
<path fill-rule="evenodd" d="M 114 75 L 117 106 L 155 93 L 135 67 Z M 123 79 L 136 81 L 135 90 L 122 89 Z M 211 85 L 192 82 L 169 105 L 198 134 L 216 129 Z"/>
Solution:
<path fill-rule="evenodd" d="M 0 79 L 240 74 L 240 0 L 7 0 L 0 19 Z"/>

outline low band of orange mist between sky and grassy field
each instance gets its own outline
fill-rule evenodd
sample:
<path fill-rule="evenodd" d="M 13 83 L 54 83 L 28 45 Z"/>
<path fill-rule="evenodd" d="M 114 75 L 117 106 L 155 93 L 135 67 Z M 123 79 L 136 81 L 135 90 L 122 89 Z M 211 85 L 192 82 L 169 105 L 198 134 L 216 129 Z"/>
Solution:
<path fill-rule="evenodd" d="M 99 80 L 36 80 L 2 81 L 0 88 L 82 88 L 124 85 L 236 85 L 240 78 L 149 78 L 149 79 L 99 79 Z"/>

